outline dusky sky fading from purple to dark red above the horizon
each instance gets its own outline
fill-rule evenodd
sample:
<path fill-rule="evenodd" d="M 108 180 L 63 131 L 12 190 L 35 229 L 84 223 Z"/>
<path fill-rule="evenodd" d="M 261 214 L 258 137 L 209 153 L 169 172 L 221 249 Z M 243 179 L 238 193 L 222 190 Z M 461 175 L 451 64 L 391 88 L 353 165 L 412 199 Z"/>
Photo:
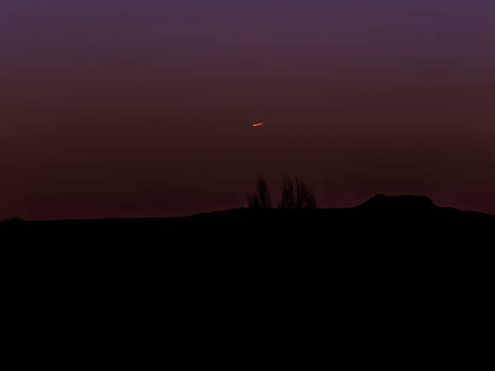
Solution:
<path fill-rule="evenodd" d="M 0 218 L 375 194 L 495 213 L 493 0 L 2 0 Z M 264 125 L 252 127 L 252 124 Z"/>

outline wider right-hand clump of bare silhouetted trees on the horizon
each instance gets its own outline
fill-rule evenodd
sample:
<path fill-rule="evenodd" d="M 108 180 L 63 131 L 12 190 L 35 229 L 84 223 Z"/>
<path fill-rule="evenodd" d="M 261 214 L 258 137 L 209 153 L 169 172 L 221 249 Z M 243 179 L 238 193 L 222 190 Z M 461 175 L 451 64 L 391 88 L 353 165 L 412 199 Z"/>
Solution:
<path fill-rule="evenodd" d="M 316 198 L 313 189 L 310 189 L 301 177 L 284 177 L 282 198 L 279 208 L 316 208 Z"/>

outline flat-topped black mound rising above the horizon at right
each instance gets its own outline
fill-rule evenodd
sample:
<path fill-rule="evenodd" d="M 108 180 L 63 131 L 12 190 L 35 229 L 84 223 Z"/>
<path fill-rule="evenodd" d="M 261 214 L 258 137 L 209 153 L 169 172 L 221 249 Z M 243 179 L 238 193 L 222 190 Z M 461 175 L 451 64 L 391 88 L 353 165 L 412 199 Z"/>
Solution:
<path fill-rule="evenodd" d="M 358 208 L 369 211 L 431 211 L 438 208 L 433 201 L 426 196 L 385 196 L 377 194 Z"/>

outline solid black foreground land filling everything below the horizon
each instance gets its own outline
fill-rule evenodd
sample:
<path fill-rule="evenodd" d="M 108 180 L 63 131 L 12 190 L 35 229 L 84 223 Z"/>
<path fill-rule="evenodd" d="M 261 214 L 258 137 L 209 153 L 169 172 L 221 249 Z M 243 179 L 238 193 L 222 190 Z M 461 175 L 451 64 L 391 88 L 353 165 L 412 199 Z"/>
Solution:
<path fill-rule="evenodd" d="M 426 197 L 0 230 L 10 340 L 37 360 L 54 336 L 86 365 L 472 367 L 491 334 L 495 216 Z"/>

